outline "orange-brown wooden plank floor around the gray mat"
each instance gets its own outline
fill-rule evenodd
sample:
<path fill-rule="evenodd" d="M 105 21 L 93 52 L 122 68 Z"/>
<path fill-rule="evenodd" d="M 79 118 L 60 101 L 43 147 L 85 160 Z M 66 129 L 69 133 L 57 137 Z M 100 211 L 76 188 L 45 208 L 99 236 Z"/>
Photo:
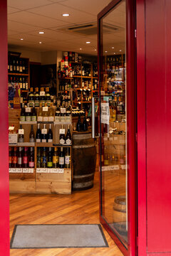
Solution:
<path fill-rule="evenodd" d="M 17 224 L 91 224 L 99 222 L 98 172 L 94 187 L 72 195 L 10 196 L 10 236 Z M 11 249 L 11 256 L 120 256 L 123 255 L 110 235 L 103 229 L 109 247 L 105 248 L 58 248 L 58 249 Z M 47 238 L 48 239 L 48 238 Z"/>

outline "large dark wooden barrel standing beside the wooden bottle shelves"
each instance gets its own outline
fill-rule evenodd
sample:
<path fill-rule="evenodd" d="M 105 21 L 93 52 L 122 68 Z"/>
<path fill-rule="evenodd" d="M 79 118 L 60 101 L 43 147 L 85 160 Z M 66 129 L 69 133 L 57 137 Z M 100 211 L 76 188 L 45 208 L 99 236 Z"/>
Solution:
<path fill-rule="evenodd" d="M 73 134 L 73 190 L 93 187 L 96 149 L 90 132 Z"/>

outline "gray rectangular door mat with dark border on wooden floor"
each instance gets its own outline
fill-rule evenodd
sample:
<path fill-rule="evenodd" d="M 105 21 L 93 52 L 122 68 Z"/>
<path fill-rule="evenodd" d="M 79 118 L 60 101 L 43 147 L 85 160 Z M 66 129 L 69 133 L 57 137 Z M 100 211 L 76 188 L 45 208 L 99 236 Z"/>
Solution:
<path fill-rule="evenodd" d="M 108 247 L 100 224 L 15 225 L 11 249 Z"/>

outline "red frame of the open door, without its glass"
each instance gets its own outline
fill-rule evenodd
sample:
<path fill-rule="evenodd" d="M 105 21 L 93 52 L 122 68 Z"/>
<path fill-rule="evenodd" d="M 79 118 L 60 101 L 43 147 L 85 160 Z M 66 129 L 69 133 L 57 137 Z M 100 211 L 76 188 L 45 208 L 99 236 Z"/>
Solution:
<path fill-rule="evenodd" d="M 108 6 L 98 14 L 98 79 L 103 79 L 100 75 L 102 70 L 103 60 L 101 54 L 103 53 L 103 42 L 102 42 L 102 19 L 108 14 L 109 11 L 113 10 L 120 0 L 113 0 Z M 127 53 L 126 53 L 126 66 L 131 67 L 127 72 L 127 109 L 131 110 L 128 114 L 128 250 L 123 246 L 122 242 L 115 236 L 113 230 L 110 229 L 109 225 L 103 219 L 101 209 L 101 193 L 100 191 L 100 222 L 104 228 L 108 231 L 110 236 L 113 238 L 115 243 L 118 245 L 124 255 L 135 255 L 136 253 L 136 90 L 135 90 L 135 1 L 126 0 L 126 29 L 127 29 Z M 100 88 L 99 88 L 100 95 Z M 100 108 L 99 108 L 100 110 Z M 100 121 L 99 121 L 100 122 Z M 100 123 L 99 123 L 100 127 Z M 100 131 L 101 132 L 101 131 Z M 101 143 L 101 139 L 100 139 Z M 100 159 L 100 157 L 99 157 Z M 101 163 L 100 163 L 101 164 Z M 101 166 L 100 166 L 101 168 Z M 100 171 L 100 180 L 103 183 L 103 174 Z M 101 187 L 101 184 L 100 184 Z M 102 197 L 103 199 L 103 197 Z"/>

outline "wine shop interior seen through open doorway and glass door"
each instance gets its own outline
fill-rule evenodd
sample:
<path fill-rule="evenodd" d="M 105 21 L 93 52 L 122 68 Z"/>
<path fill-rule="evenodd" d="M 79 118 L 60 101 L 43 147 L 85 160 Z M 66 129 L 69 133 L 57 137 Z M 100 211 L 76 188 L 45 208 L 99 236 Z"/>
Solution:
<path fill-rule="evenodd" d="M 109 3 L 8 1 L 10 237 L 15 225 L 100 224 L 100 191 L 102 215 L 128 247 L 125 1 L 103 18 L 98 74 L 97 15 Z M 103 233 L 108 247 L 29 255 L 123 255 Z"/>

